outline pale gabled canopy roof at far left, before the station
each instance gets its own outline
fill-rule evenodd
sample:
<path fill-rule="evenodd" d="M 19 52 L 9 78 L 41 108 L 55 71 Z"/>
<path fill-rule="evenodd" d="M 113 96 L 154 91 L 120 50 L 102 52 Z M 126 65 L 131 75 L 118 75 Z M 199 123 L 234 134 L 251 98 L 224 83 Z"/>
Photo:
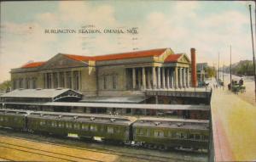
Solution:
<path fill-rule="evenodd" d="M 79 101 L 82 98 L 80 92 L 72 89 L 16 89 L 0 96 L 2 102 L 58 102 Z"/>

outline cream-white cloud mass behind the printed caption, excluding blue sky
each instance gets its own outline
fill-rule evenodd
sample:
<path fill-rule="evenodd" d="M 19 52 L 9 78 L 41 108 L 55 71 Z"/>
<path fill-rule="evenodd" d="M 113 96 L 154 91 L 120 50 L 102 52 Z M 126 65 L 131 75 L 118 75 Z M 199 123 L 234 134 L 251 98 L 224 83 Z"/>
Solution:
<path fill-rule="evenodd" d="M 152 9 L 147 11 L 145 17 L 120 22 L 116 19 L 119 13 L 114 5 L 61 1 L 55 11 L 35 14 L 31 22 L 3 22 L 1 80 L 9 78 L 8 71 L 12 68 L 29 60 L 47 60 L 56 53 L 99 55 L 121 53 L 134 48 L 171 47 L 176 53 L 185 52 L 189 55 L 190 47 L 195 47 L 198 62 L 209 61 L 212 64 L 217 61 L 218 52 L 222 59 L 229 60 L 229 45 L 232 44 L 234 62 L 251 58 L 247 13 L 235 8 L 209 14 L 209 6 L 200 2 L 163 4 L 168 4 L 165 6 L 166 11 Z M 129 8 L 127 12 L 130 12 Z M 202 14 L 204 12 L 207 16 Z M 139 34 L 44 34 L 44 29 L 77 29 L 82 25 L 101 28 L 136 25 Z"/>

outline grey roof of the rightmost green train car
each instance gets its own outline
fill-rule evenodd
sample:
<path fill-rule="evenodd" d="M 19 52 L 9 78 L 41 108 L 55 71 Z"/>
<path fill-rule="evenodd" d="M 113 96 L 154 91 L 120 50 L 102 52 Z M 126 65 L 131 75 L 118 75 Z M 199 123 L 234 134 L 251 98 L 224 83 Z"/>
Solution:
<path fill-rule="evenodd" d="M 189 129 L 189 130 L 208 130 L 208 120 L 184 120 L 171 118 L 140 118 L 134 122 L 133 126 Z"/>

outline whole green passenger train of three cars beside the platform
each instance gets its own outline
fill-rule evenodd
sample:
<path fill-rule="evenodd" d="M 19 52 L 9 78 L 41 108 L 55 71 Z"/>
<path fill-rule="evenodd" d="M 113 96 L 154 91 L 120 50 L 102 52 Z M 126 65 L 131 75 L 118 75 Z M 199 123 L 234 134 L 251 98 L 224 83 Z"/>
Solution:
<path fill-rule="evenodd" d="M 67 137 L 100 137 L 102 141 L 146 148 L 207 149 L 208 120 L 140 118 L 0 109 L 0 126 Z"/>

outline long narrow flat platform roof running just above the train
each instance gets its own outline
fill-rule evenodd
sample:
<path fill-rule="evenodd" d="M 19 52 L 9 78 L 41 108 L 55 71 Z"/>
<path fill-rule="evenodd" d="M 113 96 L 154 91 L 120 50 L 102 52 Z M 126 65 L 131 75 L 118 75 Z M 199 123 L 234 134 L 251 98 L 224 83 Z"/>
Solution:
<path fill-rule="evenodd" d="M 162 109 L 162 110 L 201 110 L 209 111 L 209 105 L 190 105 L 190 104 L 145 104 L 145 103 L 67 103 L 67 102 L 48 102 L 48 103 L 2 103 L 38 106 L 62 106 L 62 107 L 84 107 L 84 108 L 116 108 L 116 109 Z"/>

